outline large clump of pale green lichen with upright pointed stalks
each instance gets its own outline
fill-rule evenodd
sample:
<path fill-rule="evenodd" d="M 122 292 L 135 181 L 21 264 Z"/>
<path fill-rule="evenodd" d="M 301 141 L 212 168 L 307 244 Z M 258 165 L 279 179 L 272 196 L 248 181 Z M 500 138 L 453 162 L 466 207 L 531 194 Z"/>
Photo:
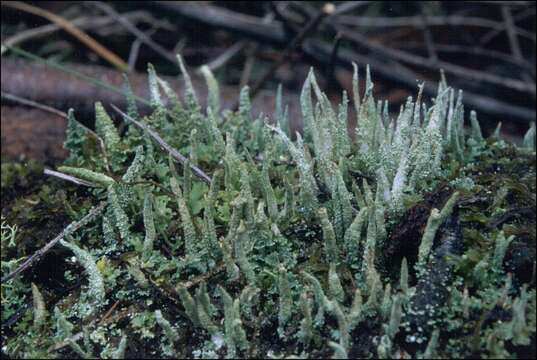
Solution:
<path fill-rule="evenodd" d="M 534 125 L 520 148 L 484 139 L 445 80 L 392 119 L 369 70 L 359 94 L 355 68 L 356 140 L 347 95 L 334 109 L 313 71 L 304 132 L 291 134 L 280 91 L 273 118 L 253 118 L 247 87 L 237 112 L 221 111 L 204 69 L 202 111 L 179 65 L 184 101 L 149 67 L 149 116 L 126 87 L 123 135 L 100 103 L 95 133 L 69 112 L 58 170 L 88 187 L 56 183 L 48 215 L 60 232 L 105 206 L 56 246 L 61 287 L 27 275 L 38 266 L 2 283 L 7 355 L 532 354 Z M 3 219 L 2 277 L 35 251 L 20 246 L 19 211 Z"/>

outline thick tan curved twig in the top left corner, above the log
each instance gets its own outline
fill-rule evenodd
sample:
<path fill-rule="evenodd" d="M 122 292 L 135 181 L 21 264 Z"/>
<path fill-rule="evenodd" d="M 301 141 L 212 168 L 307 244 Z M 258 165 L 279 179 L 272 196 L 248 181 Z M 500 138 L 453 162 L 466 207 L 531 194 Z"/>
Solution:
<path fill-rule="evenodd" d="M 1 6 L 10 7 L 20 11 L 24 11 L 36 16 L 45 18 L 59 26 L 61 26 L 65 31 L 76 37 L 87 47 L 99 54 L 103 59 L 117 67 L 118 69 L 124 71 L 127 69 L 127 64 L 121 60 L 119 56 L 105 48 L 97 40 L 77 28 L 73 23 L 65 20 L 61 16 L 51 13 L 50 11 L 38 8 L 36 6 L 26 4 L 20 1 L 2 1 Z"/>

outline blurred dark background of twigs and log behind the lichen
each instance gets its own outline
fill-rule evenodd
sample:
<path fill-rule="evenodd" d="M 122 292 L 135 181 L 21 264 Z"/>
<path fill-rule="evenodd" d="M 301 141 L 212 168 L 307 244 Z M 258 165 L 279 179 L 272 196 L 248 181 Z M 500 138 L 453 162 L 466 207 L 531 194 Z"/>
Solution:
<path fill-rule="evenodd" d="M 343 90 L 352 94 L 352 62 L 362 91 L 370 65 L 376 98 L 389 100 L 395 114 L 420 82 L 434 96 L 443 69 L 485 134 L 502 122 L 502 135 L 518 141 L 535 121 L 533 1 L 1 4 L 2 159 L 59 160 L 67 109 L 91 127 L 95 101 L 124 105 L 120 94 L 73 71 L 117 87 L 126 72 L 147 98 L 148 63 L 182 91 L 176 53 L 202 102 L 202 65 L 220 81 L 227 108 L 248 85 L 254 112 L 271 114 L 281 84 L 295 129 L 310 67 L 337 102 Z"/>

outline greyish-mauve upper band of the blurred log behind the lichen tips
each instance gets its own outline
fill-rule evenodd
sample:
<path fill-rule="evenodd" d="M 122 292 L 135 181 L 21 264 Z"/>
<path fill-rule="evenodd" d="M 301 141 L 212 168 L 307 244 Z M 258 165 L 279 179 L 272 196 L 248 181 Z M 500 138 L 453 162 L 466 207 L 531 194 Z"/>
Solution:
<path fill-rule="evenodd" d="M 123 86 L 123 76 L 120 72 L 101 66 L 66 65 L 66 67 L 115 87 L 121 88 Z M 194 74 L 191 76 L 201 106 L 205 108 L 207 103 L 205 81 Z M 179 97 L 183 96 L 184 85 L 180 78 L 171 76 L 162 76 L 162 78 L 170 83 Z M 129 81 L 135 95 L 149 99 L 147 75 L 133 73 L 129 75 Z M 93 113 L 95 101 L 102 101 L 103 104 L 114 103 L 120 108 L 126 106 L 122 94 L 89 84 L 87 81 L 75 78 L 60 70 L 21 60 L 2 59 L 1 83 L 4 92 L 47 104 L 63 111 L 72 107 L 78 113 Z M 220 89 L 222 107 L 230 108 L 239 96 L 239 89 L 224 85 L 221 85 Z M 300 114 L 298 97 L 294 94 L 287 94 L 284 100 L 289 105 L 290 117 L 298 118 Z M 147 108 L 144 109 L 141 104 L 140 106 L 142 111 L 147 111 Z M 254 116 L 259 113 L 272 114 L 274 109 L 275 99 L 273 92 L 270 91 L 260 92 L 259 97 L 252 102 Z"/>

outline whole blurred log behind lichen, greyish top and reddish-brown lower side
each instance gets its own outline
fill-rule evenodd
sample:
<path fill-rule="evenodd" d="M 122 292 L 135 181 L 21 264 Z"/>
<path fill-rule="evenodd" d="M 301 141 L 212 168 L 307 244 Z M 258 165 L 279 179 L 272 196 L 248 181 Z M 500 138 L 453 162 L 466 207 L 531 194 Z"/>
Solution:
<path fill-rule="evenodd" d="M 100 66 L 68 65 L 81 74 L 99 79 L 116 87 L 122 87 L 121 73 Z M 180 78 L 162 76 L 182 97 L 184 84 Z M 147 75 L 133 73 L 129 75 L 133 92 L 144 99 L 149 99 Z M 192 74 L 192 83 L 203 108 L 207 103 L 207 86 L 205 81 Z M 77 116 L 84 114 L 93 118 L 94 103 L 116 104 L 126 107 L 122 94 L 97 87 L 87 81 L 71 76 L 60 70 L 21 60 L 2 59 L 2 91 L 30 99 L 56 109 L 67 111 L 74 108 Z M 223 108 L 231 108 L 239 96 L 236 87 L 220 86 Z M 300 110 L 296 94 L 285 94 L 284 101 L 289 106 L 291 128 L 298 130 Z M 4 102 L 4 99 L 2 100 Z M 45 161 L 61 159 L 66 155 L 62 144 L 65 138 L 66 120 L 37 109 L 11 108 L 2 106 L 2 158 L 17 159 L 21 155 Z M 270 91 L 261 91 L 252 101 L 252 113 L 272 114 L 275 109 L 275 97 Z M 142 113 L 147 113 L 147 106 L 139 104 Z"/>

